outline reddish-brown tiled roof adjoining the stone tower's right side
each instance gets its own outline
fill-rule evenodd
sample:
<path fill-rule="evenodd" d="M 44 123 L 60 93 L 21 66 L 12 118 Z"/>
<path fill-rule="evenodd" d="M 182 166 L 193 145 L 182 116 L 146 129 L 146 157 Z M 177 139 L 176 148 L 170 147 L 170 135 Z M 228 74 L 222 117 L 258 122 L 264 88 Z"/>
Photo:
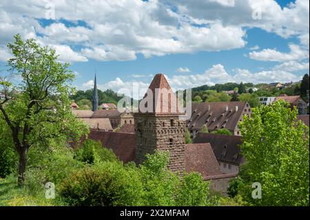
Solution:
<path fill-rule="evenodd" d="M 185 171 L 200 172 L 203 178 L 221 174 L 209 143 L 185 144 Z"/>

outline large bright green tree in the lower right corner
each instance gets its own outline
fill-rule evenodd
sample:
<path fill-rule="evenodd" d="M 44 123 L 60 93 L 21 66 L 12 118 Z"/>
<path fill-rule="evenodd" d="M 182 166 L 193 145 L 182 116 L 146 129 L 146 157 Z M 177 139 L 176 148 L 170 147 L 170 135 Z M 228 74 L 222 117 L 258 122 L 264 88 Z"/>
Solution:
<path fill-rule="evenodd" d="M 254 108 L 240 122 L 242 167 L 238 193 L 258 206 L 309 206 L 309 128 L 296 122 L 296 108 L 285 101 Z M 252 183 L 262 186 L 253 199 Z"/>

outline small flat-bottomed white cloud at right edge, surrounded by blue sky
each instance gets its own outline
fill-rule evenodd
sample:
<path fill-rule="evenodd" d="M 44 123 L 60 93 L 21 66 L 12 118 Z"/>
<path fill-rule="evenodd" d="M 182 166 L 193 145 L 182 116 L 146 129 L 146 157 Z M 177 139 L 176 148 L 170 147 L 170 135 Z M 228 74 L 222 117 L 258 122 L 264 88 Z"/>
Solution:
<path fill-rule="evenodd" d="M 261 51 L 253 51 L 249 53 L 251 59 L 259 61 L 299 61 L 309 58 L 309 50 L 303 50 L 296 44 L 289 44 L 289 52 L 279 52 L 273 49 L 264 49 Z"/>

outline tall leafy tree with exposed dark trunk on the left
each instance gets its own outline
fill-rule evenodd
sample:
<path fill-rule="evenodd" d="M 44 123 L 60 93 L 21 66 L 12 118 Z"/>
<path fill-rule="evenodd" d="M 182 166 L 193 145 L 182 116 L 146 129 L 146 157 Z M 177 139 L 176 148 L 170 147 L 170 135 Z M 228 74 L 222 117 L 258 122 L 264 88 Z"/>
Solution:
<path fill-rule="evenodd" d="M 18 183 L 22 186 L 29 148 L 48 147 L 50 140 L 65 139 L 69 134 L 78 138 L 87 127 L 70 110 L 68 83 L 74 74 L 68 63 L 58 62 L 54 50 L 39 46 L 34 39 L 23 41 L 19 34 L 14 39 L 8 43 L 13 54 L 8 67 L 21 82 L 14 86 L 5 77 L 0 79 L 4 94 L 0 112 L 19 154 Z"/>

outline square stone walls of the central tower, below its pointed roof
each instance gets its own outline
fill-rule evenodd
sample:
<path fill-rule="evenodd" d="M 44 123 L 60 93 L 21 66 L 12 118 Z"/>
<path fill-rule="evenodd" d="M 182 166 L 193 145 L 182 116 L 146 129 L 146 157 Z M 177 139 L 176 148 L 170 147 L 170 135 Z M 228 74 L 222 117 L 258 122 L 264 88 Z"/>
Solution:
<path fill-rule="evenodd" d="M 137 114 L 136 130 L 136 163 L 142 163 L 145 154 L 154 150 L 169 151 L 168 168 L 182 172 L 185 168 L 185 121 L 178 115 L 154 116 Z"/>

